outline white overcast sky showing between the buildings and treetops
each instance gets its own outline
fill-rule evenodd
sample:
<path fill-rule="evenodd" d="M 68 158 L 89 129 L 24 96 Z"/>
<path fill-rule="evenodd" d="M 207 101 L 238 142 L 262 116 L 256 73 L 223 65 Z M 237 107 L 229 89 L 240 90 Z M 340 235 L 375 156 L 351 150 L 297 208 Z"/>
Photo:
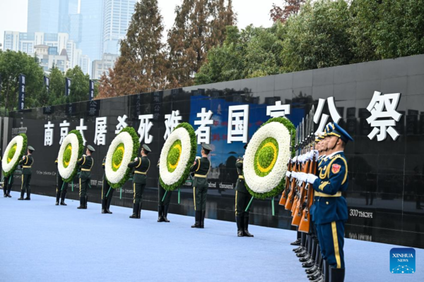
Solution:
<path fill-rule="evenodd" d="M 175 19 L 175 6 L 182 0 L 158 0 L 163 16 L 165 30 L 170 29 Z M 247 25 L 270 27 L 269 10 L 272 4 L 282 4 L 282 0 L 232 0 L 232 6 L 237 13 L 237 26 L 245 28 Z M 6 30 L 26 32 L 28 16 L 28 0 L 0 0 L 0 43 L 4 44 L 3 37 Z"/>

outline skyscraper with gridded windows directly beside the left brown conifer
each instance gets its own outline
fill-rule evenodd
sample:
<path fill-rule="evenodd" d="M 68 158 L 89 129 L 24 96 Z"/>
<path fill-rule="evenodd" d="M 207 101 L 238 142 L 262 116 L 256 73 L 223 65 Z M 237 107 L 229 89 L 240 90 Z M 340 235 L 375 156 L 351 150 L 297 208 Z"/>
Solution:
<path fill-rule="evenodd" d="M 102 53 L 119 54 L 119 40 L 126 36 L 136 0 L 105 0 Z"/>

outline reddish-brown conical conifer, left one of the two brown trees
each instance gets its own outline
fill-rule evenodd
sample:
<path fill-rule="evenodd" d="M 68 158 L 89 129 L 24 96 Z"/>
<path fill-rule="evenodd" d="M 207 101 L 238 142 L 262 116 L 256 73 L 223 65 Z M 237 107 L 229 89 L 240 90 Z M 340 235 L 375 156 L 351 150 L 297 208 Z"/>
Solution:
<path fill-rule="evenodd" d="M 121 56 L 109 75 L 100 79 L 100 96 L 114 97 L 151 92 L 166 87 L 167 62 L 162 16 L 158 0 L 136 4 L 126 38 L 121 41 Z"/>

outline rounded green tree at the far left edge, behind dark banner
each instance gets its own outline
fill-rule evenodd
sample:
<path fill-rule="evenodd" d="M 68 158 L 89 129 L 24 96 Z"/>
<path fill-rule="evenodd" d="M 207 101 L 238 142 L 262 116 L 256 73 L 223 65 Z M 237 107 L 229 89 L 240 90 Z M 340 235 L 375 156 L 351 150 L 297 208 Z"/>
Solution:
<path fill-rule="evenodd" d="M 25 108 L 38 106 L 37 95 L 43 88 L 43 71 L 37 58 L 20 51 L 0 51 L 1 106 L 4 111 L 17 109 L 19 75 L 25 75 Z"/>

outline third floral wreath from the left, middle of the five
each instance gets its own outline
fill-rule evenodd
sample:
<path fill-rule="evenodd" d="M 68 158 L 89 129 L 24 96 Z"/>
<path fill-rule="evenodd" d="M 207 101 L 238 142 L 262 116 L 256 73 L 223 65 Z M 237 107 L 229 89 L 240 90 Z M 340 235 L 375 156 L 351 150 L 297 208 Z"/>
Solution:
<path fill-rule="evenodd" d="M 121 188 L 129 179 L 131 168 L 128 164 L 139 154 L 139 136 L 131 127 L 123 128 L 114 137 L 107 150 L 105 173 L 110 187 Z"/>

